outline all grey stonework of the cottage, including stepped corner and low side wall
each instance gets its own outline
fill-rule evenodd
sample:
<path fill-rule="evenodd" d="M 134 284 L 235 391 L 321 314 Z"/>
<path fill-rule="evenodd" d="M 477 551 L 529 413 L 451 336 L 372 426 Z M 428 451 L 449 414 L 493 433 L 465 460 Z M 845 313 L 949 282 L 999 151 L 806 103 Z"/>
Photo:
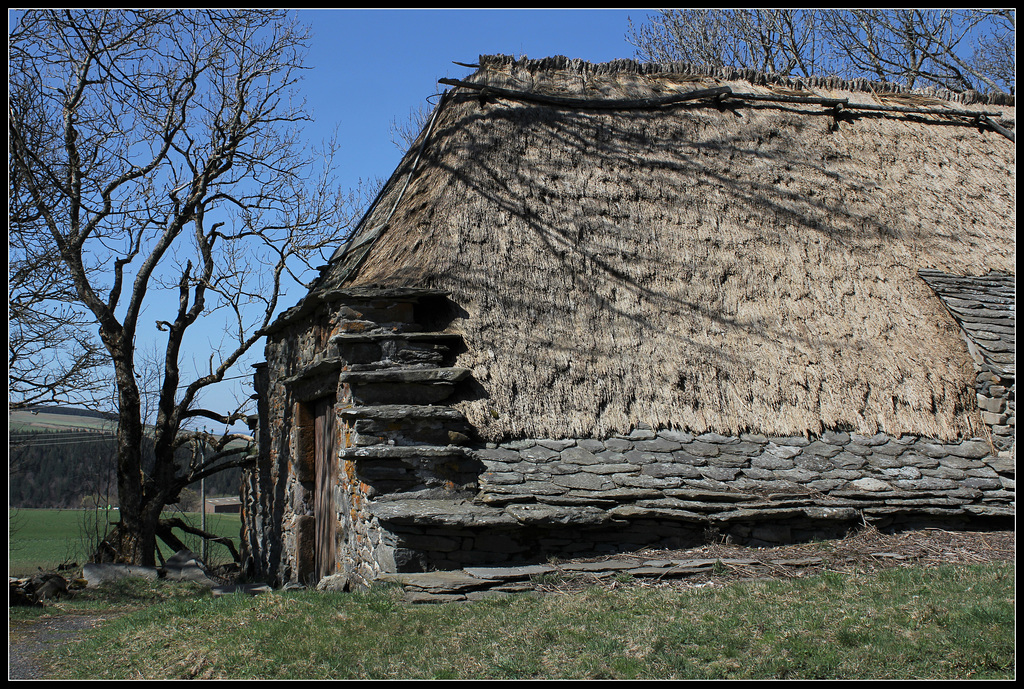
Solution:
<path fill-rule="evenodd" d="M 259 466 L 244 485 L 250 576 L 341 589 L 400 572 L 710 539 L 772 545 L 863 523 L 1013 517 L 1012 358 L 989 357 L 979 372 L 994 440 L 637 428 L 481 443 L 457 408 L 473 386 L 470 371 L 455 365 L 461 339 L 442 332 L 455 310 L 429 290 L 339 290 L 300 303 L 271 329 L 256 377 Z M 990 331 L 998 332 L 972 332 Z M 323 399 L 334 424 L 329 485 L 312 446 Z M 326 552 L 331 561 L 318 570 Z"/>

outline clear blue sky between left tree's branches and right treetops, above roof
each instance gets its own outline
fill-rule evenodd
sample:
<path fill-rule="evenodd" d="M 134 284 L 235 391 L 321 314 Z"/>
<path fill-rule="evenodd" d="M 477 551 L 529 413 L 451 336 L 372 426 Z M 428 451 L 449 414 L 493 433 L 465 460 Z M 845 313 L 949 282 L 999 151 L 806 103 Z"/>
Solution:
<path fill-rule="evenodd" d="M 402 154 L 391 141 L 394 121 L 443 90 L 438 79 L 458 79 L 481 54 L 551 55 L 604 62 L 633 57 L 626 42 L 629 17 L 647 10 L 350 10 L 307 9 L 311 25 L 302 93 L 316 121 L 312 140 L 339 128 L 343 183 L 387 178 Z M 433 99 L 436 101 L 436 98 Z M 349 180 L 349 181 L 345 181 Z"/>

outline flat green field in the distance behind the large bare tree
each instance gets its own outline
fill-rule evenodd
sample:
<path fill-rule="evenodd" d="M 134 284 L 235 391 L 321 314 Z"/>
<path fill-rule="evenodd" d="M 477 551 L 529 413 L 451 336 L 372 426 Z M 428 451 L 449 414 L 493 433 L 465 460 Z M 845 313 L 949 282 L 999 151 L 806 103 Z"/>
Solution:
<path fill-rule="evenodd" d="M 103 513 L 90 510 L 9 510 L 8 511 L 8 564 L 10 576 L 25 576 L 38 569 L 55 569 L 63 563 L 83 564 L 88 557 L 85 533 L 92 529 L 96 517 Z M 106 513 L 110 521 L 117 521 L 117 510 Z M 195 526 L 200 526 L 202 515 L 185 513 L 183 518 Z M 236 547 L 239 543 L 241 522 L 237 514 L 208 514 L 207 530 L 231 539 Z M 178 532 L 178 535 L 181 535 Z M 200 540 L 196 536 L 182 539 L 191 550 L 199 552 Z M 171 555 L 163 547 L 164 556 Z M 210 545 L 210 559 L 213 563 L 227 562 L 227 549 L 216 544 Z"/>

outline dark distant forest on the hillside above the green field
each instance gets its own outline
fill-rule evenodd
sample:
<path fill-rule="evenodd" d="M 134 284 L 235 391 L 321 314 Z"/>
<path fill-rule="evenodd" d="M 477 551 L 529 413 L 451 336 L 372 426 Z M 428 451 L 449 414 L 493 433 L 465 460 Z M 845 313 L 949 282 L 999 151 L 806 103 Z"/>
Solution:
<path fill-rule="evenodd" d="M 81 430 L 26 432 L 10 436 L 8 506 L 24 509 L 79 509 L 118 505 L 117 438 Z M 207 456 L 211 450 L 207 450 Z M 180 447 L 177 460 L 193 461 L 191 449 Z M 155 463 L 153 440 L 143 443 L 143 471 Z M 237 496 L 239 469 L 206 479 L 207 496 Z M 199 508 L 199 486 L 181 496 L 179 507 Z"/>

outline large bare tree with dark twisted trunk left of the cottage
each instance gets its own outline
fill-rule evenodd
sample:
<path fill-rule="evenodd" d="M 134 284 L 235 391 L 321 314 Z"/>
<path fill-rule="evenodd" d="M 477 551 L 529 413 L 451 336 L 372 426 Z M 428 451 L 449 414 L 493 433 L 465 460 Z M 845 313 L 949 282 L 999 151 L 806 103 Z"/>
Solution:
<path fill-rule="evenodd" d="M 278 10 L 65 9 L 25 12 L 8 38 L 8 161 L 25 219 L 11 234 L 40 242 L 58 266 L 47 279 L 95 324 L 117 390 L 121 521 L 109 543 L 115 559 L 152 565 L 157 535 L 174 542 L 163 508 L 249 461 L 245 434 L 188 430 L 245 417 L 198 408 L 199 394 L 348 231 L 333 145 L 301 143 L 308 35 Z M 222 337 L 186 340 L 204 319 Z M 143 472 L 136 342 L 147 326 L 163 339 L 156 464 Z M 182 373 L 189 348 L 207 351 L 196 376 Z M 176 464 L 197 435 L 212 453 Z"/>

